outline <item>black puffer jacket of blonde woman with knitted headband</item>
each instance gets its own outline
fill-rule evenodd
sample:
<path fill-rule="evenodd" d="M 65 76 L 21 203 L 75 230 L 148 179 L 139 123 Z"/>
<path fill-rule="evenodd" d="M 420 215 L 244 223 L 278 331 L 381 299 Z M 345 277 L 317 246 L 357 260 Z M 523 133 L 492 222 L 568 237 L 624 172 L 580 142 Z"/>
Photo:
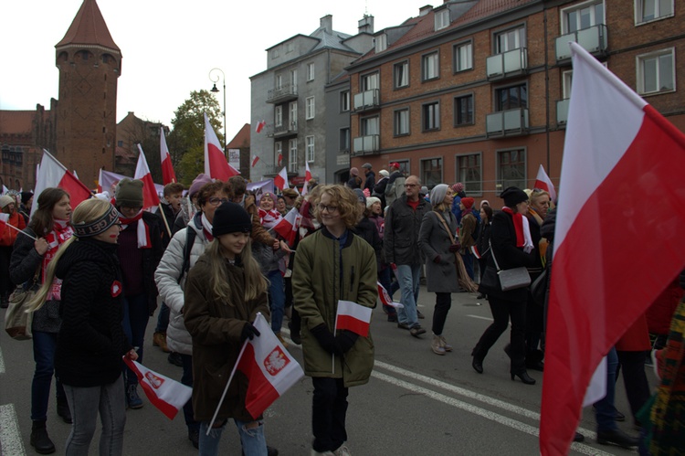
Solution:
<path fill-rule="evenodd" d="M 55 352 L 58 378 L 71 387 L 97 387 L 121 376 L 121 356 L 132 349 L 123 334 L 123 294 L 117 244 L 75 239 L 59 259 L 63 280 Z"/>

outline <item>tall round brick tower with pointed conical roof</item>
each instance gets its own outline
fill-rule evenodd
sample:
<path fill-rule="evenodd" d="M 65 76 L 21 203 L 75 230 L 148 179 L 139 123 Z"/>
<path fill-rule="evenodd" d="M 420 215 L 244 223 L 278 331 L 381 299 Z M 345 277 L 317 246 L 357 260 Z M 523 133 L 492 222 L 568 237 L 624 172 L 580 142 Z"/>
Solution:
<path fill-rule="evenodd" d="M 83 0 L 55 49 L 59 69 L 56 156 L 92 188 L 100 168 L 114 169 L 121 50 L 95 0 Z"/>

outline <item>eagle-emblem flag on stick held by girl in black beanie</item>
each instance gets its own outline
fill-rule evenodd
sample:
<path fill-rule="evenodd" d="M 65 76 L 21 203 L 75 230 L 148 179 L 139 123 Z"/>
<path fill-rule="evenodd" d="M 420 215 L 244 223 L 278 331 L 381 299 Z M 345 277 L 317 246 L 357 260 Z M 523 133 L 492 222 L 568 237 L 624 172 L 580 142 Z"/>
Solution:
<path fill-rule="evenodd" d="M 257 419 L 276 399 L 300 381 L 304 372 L 297 360 L 280 344 L 261 313 L 257 314 L 252 324 L 260 335 L 252 340 L 246 339 L 238 355 L 237 369 L 248 377 L 245 408 L 252 418 Z"/>

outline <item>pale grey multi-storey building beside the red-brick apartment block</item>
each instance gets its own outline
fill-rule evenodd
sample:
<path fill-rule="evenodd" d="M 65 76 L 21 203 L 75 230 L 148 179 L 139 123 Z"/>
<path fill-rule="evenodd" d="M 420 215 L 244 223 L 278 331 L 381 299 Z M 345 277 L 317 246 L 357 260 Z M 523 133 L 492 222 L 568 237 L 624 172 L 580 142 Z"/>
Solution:
<path fill-rule="evenodd" d="M 374 17 L 364 16 L 358 26 L 356 35 L 348 35 L 333 30 L 332 16 L 324 16 L 311 35 L 296 35 L 267 49 L 267 69 L 250 78 L 252 123 L 266 122 L 250 137 L 252 154 L 259 157 L 251 169 L 253 181 L 273 177 L 286 166 L 290 184 L 300 185 L 305 161 L 324 183 L 339 182 L 349 170 L 349 146 L 337 147 L 343 126 L 327 122 L 332 116 L 349 130 L 349 90 L 346 105 L 339 105 L 339 99 L 327 100 L 327 87 L 337 88 L 334 81 L 343 69 L 373 47 Z M 335 147 L 327 143 L 333 137 L 329 130 L 335 132 Z"/>

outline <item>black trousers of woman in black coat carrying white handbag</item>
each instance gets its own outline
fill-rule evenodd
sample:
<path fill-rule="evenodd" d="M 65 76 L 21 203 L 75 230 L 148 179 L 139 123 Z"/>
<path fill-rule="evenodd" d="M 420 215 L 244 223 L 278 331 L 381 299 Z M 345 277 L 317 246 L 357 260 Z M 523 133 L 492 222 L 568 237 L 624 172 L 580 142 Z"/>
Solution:
<path fill-rule="evenodd" d="M 501 334 L 507 330 L 511 318 L 511 374 L 521 374 L 525 367 L 525 326 L 526 302 L 503 301 L 494 296 L 489 297 L 490 311 L 494 322 L 480 336 L 473 349 L 473 355 L 484 359 L 492 345 L 495 345 Z"/>

